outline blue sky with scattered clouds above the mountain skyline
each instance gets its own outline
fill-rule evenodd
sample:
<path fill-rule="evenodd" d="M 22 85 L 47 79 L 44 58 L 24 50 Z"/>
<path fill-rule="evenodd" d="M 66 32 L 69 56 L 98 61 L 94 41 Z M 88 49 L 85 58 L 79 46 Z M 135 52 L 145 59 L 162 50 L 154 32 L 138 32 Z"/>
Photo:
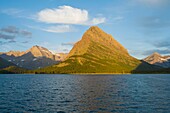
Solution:
<path fill-rule="evenodd" d="M 170 54 L 170 0 L 0 0 L 0 52 L 68 53 L 90 26 L 136 58 Z"/>

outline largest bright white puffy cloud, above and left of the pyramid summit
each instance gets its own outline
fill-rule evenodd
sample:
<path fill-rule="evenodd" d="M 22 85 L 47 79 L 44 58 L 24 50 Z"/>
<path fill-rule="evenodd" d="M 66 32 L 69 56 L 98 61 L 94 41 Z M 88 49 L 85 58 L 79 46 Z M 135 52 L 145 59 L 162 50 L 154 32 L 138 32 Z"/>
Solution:
<path fill-rule="evenodd" d="M 37 13 L 37 19 L 53 24 L 96 25 L 105 22 L 104 17 L 89 19 L 88 11 L 71 6 L 59 6 L 54 9 L 44 9 Z"/>

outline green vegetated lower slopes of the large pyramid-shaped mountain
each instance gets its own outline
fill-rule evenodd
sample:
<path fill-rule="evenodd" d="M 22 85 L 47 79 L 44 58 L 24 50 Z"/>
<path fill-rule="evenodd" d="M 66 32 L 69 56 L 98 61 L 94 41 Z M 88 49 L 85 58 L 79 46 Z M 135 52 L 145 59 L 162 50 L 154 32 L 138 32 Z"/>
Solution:
<path fill-rule="evenodd" d="M 83 55 L 74 55 L 64 62 L 35 73 L 139 73 L 154 71 L 154 66 L 143 63 L 128 54 L 116 53 L 95 42 Z M 94 46 L 95 45 L 95 46 Z M 140 67 L 140 68 L 138 68 Z"/>

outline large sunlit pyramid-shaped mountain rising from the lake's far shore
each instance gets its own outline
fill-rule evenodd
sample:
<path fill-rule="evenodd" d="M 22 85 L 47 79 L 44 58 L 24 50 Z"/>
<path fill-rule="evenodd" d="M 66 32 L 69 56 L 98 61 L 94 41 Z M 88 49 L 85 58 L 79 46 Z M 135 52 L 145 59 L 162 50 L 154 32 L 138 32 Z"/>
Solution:
<path fill-rule="evenodd" d="M 67 58 L 36 73 L 137 73 L 160 69 L 129 55 L 111 35 L 97 26 L 89 28 Z"/>

